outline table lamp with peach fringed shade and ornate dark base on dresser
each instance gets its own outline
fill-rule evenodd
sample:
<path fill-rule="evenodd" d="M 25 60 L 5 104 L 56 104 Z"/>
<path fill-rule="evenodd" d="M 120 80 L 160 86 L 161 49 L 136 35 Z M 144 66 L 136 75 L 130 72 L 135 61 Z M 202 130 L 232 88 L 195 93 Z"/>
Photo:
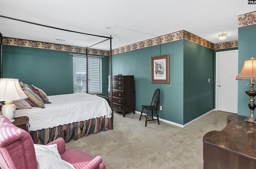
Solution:
<path fill-rule="evenodd" d="M 254 57 L 251 57 L 250 59 L 245 59 L 244 60 L 244 66 L 237 75 L 236 80 L 250 80 L 250 83 L 248 85 L 251 87 L 250 90 L 246 91 L 246 94 L 250 96 L 250 103 L 248 104 L 248 107 L 251 110 L 251 115 L 247 117 L 245 120 L 247 122 L 256 122 L 256 118 L 254 117 L 254 109 L 256 105 L 254 104 L 254 96 L 256 96 L 256 91 L 253 89 L 254 87 L 254 82 L 253 79 L 256 79 L 256 59 Z"/>

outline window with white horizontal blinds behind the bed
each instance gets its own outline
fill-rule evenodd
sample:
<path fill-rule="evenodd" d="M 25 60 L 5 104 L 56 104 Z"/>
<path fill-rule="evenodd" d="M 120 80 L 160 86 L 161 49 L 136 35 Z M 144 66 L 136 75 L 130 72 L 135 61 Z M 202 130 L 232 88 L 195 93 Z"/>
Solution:
<path fill-rule="evenodd" d="M 74 93 L 86 92 L 86 57 L 73 55 Z M 88 57 L 88 92 L 102 93 L 101 58 Z"/>

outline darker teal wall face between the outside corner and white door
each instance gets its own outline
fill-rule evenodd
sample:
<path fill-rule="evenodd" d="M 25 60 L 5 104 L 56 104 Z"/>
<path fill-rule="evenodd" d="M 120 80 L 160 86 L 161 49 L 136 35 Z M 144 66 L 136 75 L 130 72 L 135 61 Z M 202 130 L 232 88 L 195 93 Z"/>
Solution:
<path fill-rule="evenodd" d="M 212 110 L 214 95 L 214 50 L 184 40 L 184 124 Z"/>

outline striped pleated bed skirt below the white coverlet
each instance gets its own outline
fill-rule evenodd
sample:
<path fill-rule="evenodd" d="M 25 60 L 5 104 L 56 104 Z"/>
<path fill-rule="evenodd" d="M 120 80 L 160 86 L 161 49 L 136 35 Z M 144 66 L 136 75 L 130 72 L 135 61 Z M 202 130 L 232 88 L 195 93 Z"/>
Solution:
<path fill-rule="evenodd" d="M 88 134 L 112 130 L 111 118 L 93 118 L 72 124 L 64 124 L 53 128 L 30 131 L 29 134 L 35 144 L 48 144 L 57 138 L 64 138 L 65 143 L 71 139 L 77 140 Z"/>

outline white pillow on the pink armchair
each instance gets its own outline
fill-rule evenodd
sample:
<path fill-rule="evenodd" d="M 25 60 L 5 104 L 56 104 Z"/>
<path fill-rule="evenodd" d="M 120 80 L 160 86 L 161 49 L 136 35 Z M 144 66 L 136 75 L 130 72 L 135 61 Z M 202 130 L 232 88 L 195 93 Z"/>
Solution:
<path fill-rule="evenodd" d="M 73 165 L 61 159 L 57 144 L 34 144 L 38 169 L 74 169 Z"/>

